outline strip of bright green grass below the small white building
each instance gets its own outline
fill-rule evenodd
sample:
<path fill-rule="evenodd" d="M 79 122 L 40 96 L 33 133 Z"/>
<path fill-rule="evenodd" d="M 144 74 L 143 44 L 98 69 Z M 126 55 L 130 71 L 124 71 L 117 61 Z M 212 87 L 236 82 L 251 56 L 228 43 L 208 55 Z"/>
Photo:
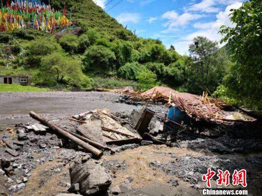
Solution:
<path fill-rule="evenodd" d="M 0 92 L 42 92 L 42 91 L 50 91 L 45 88 L 38 88 L 32 86 L 21 86 L 17 84 L 0 84 Z"/>

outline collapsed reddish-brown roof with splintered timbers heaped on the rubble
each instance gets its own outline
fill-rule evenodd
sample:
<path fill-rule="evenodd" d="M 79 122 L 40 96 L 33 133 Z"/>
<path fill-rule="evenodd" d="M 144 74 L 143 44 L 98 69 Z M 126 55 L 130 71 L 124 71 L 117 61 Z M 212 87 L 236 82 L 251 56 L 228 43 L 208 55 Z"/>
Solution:
<path fill-rule="evenodd" d="M 125 92 L 123 93 L 126 96 L 125 102 L 134 105 L 148 105 L 149 103 L 176 107 L 180 112 L 183 112 L 195 121 L 225 124 L 233 124 L 236 121 L 256 121 L 256 119 L 239 111 L 225 111 L 224 108 L 229 108 L 229 106 L 213 97 L 208 97 L 208 90 L 203 92 L 202 95 L 178 92 L 168 87 L 154 87 L 142 93 L 134 92 L 130 87 L 109 91 L 116 93 Z"/>

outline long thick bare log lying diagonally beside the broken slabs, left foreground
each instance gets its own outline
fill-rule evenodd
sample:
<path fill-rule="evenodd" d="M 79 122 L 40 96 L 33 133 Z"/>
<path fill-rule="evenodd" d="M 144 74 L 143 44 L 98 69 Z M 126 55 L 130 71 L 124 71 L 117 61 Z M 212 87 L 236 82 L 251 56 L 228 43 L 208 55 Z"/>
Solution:
<path fill-rule="evenodd" d="M 70 139 L 72 142 L 76 143 L 77 145 L 81 146 L 86 151 L 89 151 L 93 153 L 96 157 L 101 157 L 103 155 L 102 151 L 99 151 L 97 148 L 91 146 L 90 144 L 87 144 L 86 142 L 82 141 L 81 139 L 77 138 L 76 136 L 73 136 L 66 132 L 64 129 L 60 128 L 59 126 L 53 124 L 52 122 L 49 122 L 42 118 L 41 116 L 37 115 L 34 112 L 30 112 L 30 116 L 35 119 L 36 121 L 41 122 L 42 124 L 46 125 L 50 129 L 52 129 L 54 132 L 65 136 L 66 138 Z"/>

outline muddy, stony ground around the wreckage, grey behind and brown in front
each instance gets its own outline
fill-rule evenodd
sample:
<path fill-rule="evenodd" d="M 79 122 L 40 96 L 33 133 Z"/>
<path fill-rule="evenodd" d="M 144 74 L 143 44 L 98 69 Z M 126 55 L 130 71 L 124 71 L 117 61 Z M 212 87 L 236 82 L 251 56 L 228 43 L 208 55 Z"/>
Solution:
<path fill-rule="evenodd" d="M 120 112 L 116 115 L 121 117 L 122 114 L 121 118 L 128 118 L 132 109 L 141 107 L 116 103 L 119 97 L 109 92 L 0 93 L 0 129 L 3 130 L 0 137 L 16 137 L 14 131 L 5 128 L 33 121 L 28 115 L 32 110 L 49 120 L 60 119 L 61 126 L 69 126 L 65 121 L 67 116 L 98 107 Z M 166 112 L 161 106 L 152 106 L 151 109 L 162 115 Z M 14 174 L 9 176 L 12 181 L 0 176 L 0 194 L 56 196 L 66 192 L 70 186 L 68 163 L 91 154 L 76 150 L 72 145 L 61 146 L 62 138 L 49 132 L 44 135 L 30 132 L 27 135 L 29 139 L 16 158 L 0 146 L 0 159 L 11 160 L 14 168 Z M 119 186 L 121 193 L 118 195 L 122 196 L 202 195 L 201 188 L 206 187 L 206 183 L 201 181 L 201 177 L 208 167 L 231 173 L 234 169 L 246 169 L 248 186 L 244 190 L 248 190 L 249 195 L 261 195 L 261 139 L 229 138 L 227 135 L 186 137 L 179 141 L 179 145 L 173 148 L 150 142 L 124 145 L 115 147 L 117 152 L 114 155 L 104 153 L 98 161 L 113 179 L 110 189 Z M 15 190 L 23 178 L 27 178 L 25 187 L 20 190 L 16 187 Z M 217 187 L 214 180 L 211 183 L 213 188 Z"/>

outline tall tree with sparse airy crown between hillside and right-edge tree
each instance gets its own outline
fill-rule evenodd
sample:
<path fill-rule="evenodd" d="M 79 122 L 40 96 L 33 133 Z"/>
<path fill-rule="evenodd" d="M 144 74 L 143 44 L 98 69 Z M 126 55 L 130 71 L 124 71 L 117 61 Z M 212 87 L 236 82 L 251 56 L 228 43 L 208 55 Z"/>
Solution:
<path fill-rule="evenodd" d="M 193 93 L 214 91 L 222 82 L 228 57 L 224 50 L 219 50 L 218 43 L 206 37 L 197 36 L 189 46 L 191 74 L 188 89 Z"/>

